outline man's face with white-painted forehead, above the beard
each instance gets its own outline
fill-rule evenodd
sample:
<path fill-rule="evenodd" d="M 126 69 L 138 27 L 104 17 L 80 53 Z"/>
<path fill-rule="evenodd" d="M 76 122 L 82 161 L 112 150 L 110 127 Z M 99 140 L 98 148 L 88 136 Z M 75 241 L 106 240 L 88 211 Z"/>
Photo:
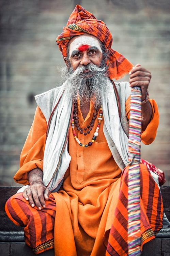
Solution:
<path fill-rule="evenodd" d="M 94 64 L 100 66 L 103 58 L 102 48 L 93 35 L 78 35 L 69 41 L 69 61 L 73 70 L 82 65 Z M 88 73 L 88 69 L 83 71 Z"/>

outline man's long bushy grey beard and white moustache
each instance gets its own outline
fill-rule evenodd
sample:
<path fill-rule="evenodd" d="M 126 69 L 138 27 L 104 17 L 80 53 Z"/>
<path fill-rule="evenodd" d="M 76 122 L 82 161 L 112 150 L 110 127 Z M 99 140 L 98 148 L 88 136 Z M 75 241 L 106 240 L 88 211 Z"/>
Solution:
<path fill-rule="evenodd" d="M 86 70 L 89 72 L 83 73 Z M 72 67 L 64 67 L 60 71 L 62 77 L 68 81 L 65 92 L 72 95 L 74 101 L 79 97 L 81 105 L 89 103 L 90 100 L 96 106 L 101 104 L 102 98 L 106 94 L 108 80 L 107 66 L 103 61 L 100 67 L 88 64 L 78 67 L 75 71 Z"/>

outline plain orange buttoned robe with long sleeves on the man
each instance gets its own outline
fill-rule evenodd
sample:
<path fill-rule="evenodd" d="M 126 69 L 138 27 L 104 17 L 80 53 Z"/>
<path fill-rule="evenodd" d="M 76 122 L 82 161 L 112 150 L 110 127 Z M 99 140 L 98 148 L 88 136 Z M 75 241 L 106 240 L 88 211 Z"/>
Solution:
<path fill-rule="evenodd" d="M 126 101 L 127 116 L 129 116 L 129 99 Z M 154 100 L 150 100 L 150 102 L 153 116 L 150 124 L 142 133 L 142 141 L 145 144 L 154 140 L 159 119 L 157 104 Z M 80 127 L 89 125 L 92 113 L 93 106 L 91 104 L 90 111 L 84 120 L 79 108 Z M 103 133 L 103 124 L 104 121 L 101 123 L 96 141 L 87 148 L 80 147 L 74 139 L 72 131 L 69 133 L 69 154 L 72 159 L 60 191 L 52 193 L 56 200 L 56 256 L 105 255 L 109 231 L 119 201 L 122 171 L 109 150 Z M 36 167 L 43 170 L 46 128 L 46 120 L 37 107 L 33 125 L 21 153 L 20 169 L 14 176 L 16 182 L 29 184 L 27 172 Z M 76 131 L 80 142 L 88 144 L 93 137 L 94 130 L 87 136 Z M 146 168 L 144 169 L 146 170 Z M 162 210 L 160 215 L 162 216 Z M 143 232 L 146 229 L 143 227 Z M 153 234 L 146 237 L 146 241 L 149 241 L 151 237 L 154 238 Z"/>

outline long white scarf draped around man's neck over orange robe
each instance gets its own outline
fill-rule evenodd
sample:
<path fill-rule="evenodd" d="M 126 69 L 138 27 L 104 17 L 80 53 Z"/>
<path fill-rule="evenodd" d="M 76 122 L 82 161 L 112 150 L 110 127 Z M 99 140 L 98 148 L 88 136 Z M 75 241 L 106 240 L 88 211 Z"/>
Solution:
<path fill-rule="evenodd" d="M 125 164 L 128 163 L 128 138 L 122 129 L 112 83 L 102 99 L 103 117 L 108 133 Z M 68 134 L 72 119 L 72 98 L 65 93 L 67 81 L 55 100 L 56 109 L 49 126 L 44 151 L 43 182 L 50 191 L 58 191 L 71 161 L 68 154 Z M 86 150 L 86 149 L 85 149 Z"/>

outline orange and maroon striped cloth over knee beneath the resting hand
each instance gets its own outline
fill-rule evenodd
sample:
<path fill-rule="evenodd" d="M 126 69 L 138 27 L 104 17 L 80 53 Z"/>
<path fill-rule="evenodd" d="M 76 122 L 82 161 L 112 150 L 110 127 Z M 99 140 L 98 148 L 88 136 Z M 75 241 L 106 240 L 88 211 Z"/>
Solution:
<path fill-rule="evenodd" d="M 46 201 L 46 208 L 40 211 L 18 193 L 6 202 L 5 211 L 15 225 L 25 227 L 25 242 L 35 254 L 54 247 L 56 201 L 52 194 Z"/>

